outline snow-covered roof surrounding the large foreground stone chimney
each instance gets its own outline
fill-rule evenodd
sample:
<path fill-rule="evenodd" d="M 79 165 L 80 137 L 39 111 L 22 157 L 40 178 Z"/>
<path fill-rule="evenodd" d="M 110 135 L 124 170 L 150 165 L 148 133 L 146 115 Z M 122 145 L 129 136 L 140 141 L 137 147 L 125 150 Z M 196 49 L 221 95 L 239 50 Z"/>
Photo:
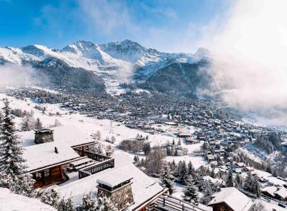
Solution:
<path fill-rule="evenodd" d="M 136 208 L 141 203 L 152 198 L 164 189 L 141 170 L 132 164 L 132 158 L 121 152 L 114 155 L 115 167 L 113 169 L 105 169 L 92 176 L 87 176 L 80 180 L 67 185 L 60 185 L 58 192 L 62 196 L 71 196 L 75 203 L 82 202 L 82 196 L 89 192 L 96 194 L 98 178 L 108 178 L 116 174 L 127 174 L 132 177 L 132 194 L 134 196 L 134 204 L 130 208 Z"/>

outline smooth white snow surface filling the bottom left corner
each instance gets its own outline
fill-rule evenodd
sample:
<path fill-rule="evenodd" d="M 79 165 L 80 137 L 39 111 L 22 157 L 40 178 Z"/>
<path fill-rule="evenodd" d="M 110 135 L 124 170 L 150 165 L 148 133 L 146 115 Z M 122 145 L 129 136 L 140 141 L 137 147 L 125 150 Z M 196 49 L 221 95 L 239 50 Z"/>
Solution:
<path fill-rule="evenodd" d="M 50 205 L 42 203 L 38 199 L 28 198 L 18 194 L 13 194 L 9 189 L 0 188 L 0 208 L 1 211 L 55 211 Z"/>

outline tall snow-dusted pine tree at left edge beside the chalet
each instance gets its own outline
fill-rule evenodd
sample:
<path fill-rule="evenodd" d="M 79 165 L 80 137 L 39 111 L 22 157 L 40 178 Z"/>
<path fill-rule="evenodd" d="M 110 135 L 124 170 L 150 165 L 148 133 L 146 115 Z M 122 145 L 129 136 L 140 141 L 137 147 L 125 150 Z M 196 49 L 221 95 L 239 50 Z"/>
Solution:
<path fill-rule="evenodd" d="M 3 124 L 1 126 L 0 171 L 1 174 L 15 177 L 24 173 L 26 166 L 22 158 L 23 148 L 19 136 L 15 134 L 15 124 L 11 119 L 9 101 L 4 101 Z"/>

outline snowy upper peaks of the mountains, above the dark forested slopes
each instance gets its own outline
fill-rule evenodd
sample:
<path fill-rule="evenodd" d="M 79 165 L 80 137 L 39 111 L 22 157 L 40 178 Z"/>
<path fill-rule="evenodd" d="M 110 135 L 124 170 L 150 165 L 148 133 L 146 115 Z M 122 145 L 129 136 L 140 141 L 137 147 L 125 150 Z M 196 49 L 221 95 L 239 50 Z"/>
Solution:
<path fill-rule="evenodd" d="M 163 71 L 170 65 L 194 65 L 208 57 L 209 52 L 206 49 L 198 49 L 194 54 L 165 53 L 146 49 L 131 40 L 107 44 L 80 40 L 62 50 L 39 44 L 22 48 L 0 47 L 0 64 L 31 65 L 37 69 L 73 69 L 73 72 L 75 69 L 93 71 L 100 78 L 120 78 L 140 83 L 146 83 L 158 70 Z M 71 76 L 71 71 L 69 75 Z"/>

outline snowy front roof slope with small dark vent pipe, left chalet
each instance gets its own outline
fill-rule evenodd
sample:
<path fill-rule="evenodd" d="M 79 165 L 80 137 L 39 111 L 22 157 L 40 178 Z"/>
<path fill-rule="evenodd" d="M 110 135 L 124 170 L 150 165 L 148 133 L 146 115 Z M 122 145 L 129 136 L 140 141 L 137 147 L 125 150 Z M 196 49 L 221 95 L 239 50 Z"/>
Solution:
<path fill-rule="evenodd" d="M 55 147 L 57 147 L 58 153 L 55 153 Z M 26 165 L 28 166 L 27 171 L 33 171 L 61 162 L 68 162 L 80 157 L 70 146 L 62 142 L 47 142 L 27 146 L 24 148 L 23 153 Z"/>

